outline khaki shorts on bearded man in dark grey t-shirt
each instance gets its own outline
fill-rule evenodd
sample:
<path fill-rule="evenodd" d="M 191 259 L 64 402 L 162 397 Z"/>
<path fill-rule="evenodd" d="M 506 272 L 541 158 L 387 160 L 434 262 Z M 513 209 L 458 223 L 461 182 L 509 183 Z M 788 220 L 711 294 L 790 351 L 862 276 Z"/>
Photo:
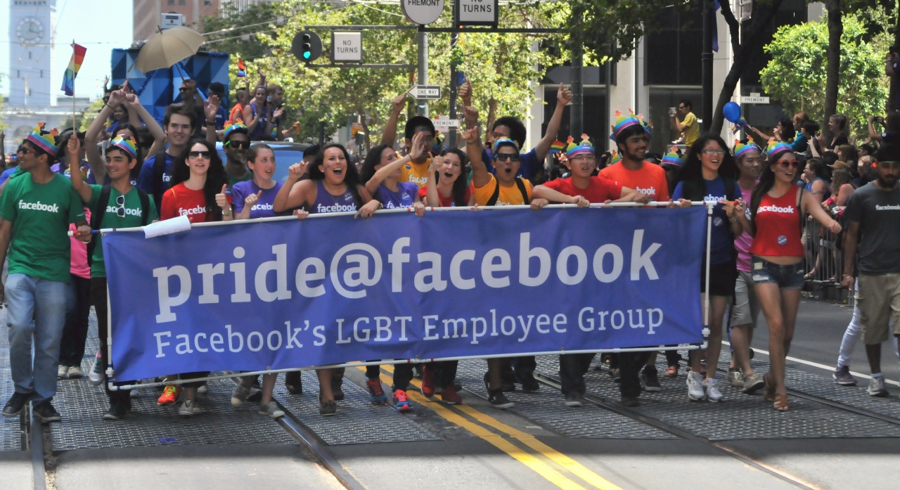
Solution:
<path fill-rule="evenodd" d="M 856 291 L 860 307 L 862 342 L 867 345 L 882 343 L 890 338 L 893 320 L 894 334 L 900 335 L 900 273 L 867 276 L 857 279 Z"/>

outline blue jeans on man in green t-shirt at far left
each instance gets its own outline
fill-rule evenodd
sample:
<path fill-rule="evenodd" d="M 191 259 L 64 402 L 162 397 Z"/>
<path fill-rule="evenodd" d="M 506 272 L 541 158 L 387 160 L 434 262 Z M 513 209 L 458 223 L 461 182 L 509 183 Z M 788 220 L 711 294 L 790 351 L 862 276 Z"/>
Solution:
<path fill-rule="evenodd" d="M 56 395 L 59 340 L 66 325 L 66 290 L 65 282 L 18 273 L 6 278 L 10 371 L 15 391 L 34 392 L 35 404 Z"/>

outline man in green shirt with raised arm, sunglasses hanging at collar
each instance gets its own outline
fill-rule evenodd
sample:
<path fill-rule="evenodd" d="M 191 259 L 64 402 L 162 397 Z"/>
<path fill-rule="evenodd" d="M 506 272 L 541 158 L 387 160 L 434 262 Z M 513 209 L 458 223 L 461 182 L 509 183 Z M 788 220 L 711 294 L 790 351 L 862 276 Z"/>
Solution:
<path fill-rule="evenodd" d="M 68 155 L 77 155 L 81 146 L 78 138 L 68 140 Z M 72 188 L 91 210 L 91 228 L 143 227 L 159 218 L 157 206 L 146 192 L 131 185 L 131 169 L 137 165 L 137 149 L 133 138 L 113 138 L 106 148 L 106 174 L 110 185 L 89 185 L 81 178 L 81 173 L 72 175 Z M 78 168 L 75 157 L 68 158 L 71 168 Z M 106 265 L 103 262 L 101 235 L 94 235 L 94 242 L 87 245 L 87 262 L 91 264 L 91 298 L 97 311 L 97 336 L 100 338 L 101 357 L 95 361 L 94 370 L 103 372 L 103 361 L 109 360 L 106 310 Z M 130 384 L 121 381 L 116 384 Z M 103 420 L 119 420 L 131 408 L 130 390 L 111 391 L 107 383 L 106 396 L 110 408 L 103 414 Z"/>

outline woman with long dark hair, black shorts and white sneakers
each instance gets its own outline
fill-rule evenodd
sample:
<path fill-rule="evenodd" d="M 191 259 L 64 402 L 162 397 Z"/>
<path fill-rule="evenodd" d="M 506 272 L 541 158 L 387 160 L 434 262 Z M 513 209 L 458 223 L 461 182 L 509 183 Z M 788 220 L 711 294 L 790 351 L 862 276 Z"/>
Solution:
<path fill-rule="evenodd" d="M 792 126 L 793 128 L 793 126 Z M 704 379 L 700 364 L 703 352 L 690 355 L 688 396 L 691 400 L 704 398 L 721 401 L 722 392 L 716 385 L 716 365 L 722 351 L 722 323 L 725 309 L 734 296 L 737 280 L 737 254 L 734 238 L 743 233 L 741 221 L 746 221 L 745 204 L 735 183 L 739 174 L 734 157 L 725 146 L 725 140 L 707 134 L 694 142 L 681 167 L 679 183 L 672 192 L 672 199 L 704 200 L 716 202 L 713 208 L 712 230 L 709 245 L 709 284 L 707 285 L 706 261 L 700 272 L 701 301 L 709 298 L 709 338 L 706 350 L 707 375 Z M 750 225 L 747 224 L 747 227 Z"/>

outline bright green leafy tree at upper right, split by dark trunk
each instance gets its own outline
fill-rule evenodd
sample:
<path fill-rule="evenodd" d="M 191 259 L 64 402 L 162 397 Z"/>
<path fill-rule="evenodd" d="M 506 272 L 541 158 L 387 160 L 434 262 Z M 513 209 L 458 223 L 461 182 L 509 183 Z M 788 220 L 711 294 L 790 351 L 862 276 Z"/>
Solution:
<path fill-rule="evenodd" d="M 855 14 L 844 14 L 842 31 L 833 111 L 846 114 L 851 131 L 866 138 L 867 116 L 882 113 L 887 102 L 884 52 L 893 36 L 883 32 L 867 41 L 865 25 Z M 762 87 L 788 111 L 806 111 L 814 120 L 826 120 L 823 94 L 827 75 L 822 67 L 827 62 L 830 35 L 827 24 L 804 22 L 780 28 L 765 47 L 772 59 L 760 74 Z"/>

